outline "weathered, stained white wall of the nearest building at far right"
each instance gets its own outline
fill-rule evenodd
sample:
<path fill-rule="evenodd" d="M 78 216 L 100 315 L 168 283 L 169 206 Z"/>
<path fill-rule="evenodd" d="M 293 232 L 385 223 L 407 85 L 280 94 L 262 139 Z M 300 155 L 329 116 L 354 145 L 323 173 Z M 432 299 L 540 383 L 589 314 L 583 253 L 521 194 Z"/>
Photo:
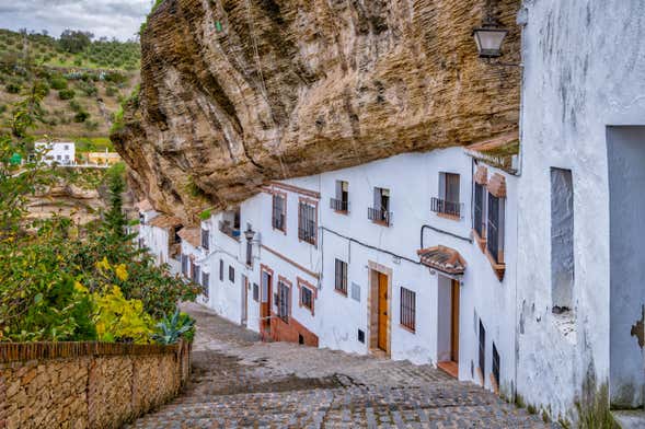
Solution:
<path fill-rule="evenodd" d="M 518 392 L 554 418 L 575 419 L 575 404 L 607 386 L 612 407 L 643 407 L 645 3 L 525 5 Z M 575 280 L 563 314 L 552 169 L 572 176 Z"/>

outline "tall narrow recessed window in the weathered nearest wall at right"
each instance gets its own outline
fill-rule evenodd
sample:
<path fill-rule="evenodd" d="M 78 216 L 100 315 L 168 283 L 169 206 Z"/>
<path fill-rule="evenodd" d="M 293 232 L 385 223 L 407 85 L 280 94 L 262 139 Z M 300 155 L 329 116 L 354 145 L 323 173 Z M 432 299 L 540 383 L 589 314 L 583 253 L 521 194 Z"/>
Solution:
<path fill-rule="evenodd" d="M 573 309 L 574 268 L 572 171 L 551 169 L 551 301 L 554 314 Z"/>

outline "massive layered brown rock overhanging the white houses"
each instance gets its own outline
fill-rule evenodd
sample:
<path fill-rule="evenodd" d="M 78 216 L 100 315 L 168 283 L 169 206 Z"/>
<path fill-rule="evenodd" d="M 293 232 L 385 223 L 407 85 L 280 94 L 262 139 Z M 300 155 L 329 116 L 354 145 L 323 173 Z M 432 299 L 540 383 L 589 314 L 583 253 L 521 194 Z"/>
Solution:
<path fill-rule="evenodd" d="M 270 179 L 516 130 L 519 69 L 471 35 L 486 2 L 519 62 L 519 0 L 165 0 L 113 136 L 135 190 L 186 219 Z"/>

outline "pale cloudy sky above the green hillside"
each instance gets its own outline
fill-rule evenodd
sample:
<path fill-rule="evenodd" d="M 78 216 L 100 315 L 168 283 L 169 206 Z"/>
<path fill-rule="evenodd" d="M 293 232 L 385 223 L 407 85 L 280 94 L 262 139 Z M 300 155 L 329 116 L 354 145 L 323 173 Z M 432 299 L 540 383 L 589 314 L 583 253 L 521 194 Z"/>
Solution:
<path fill-rule="evenodd" d="M 0 0 L 0 28 L 47 30 L 56 37 L 73 28 L 125 40 L 139 31 L 150 7 L 151 0 Z"/>

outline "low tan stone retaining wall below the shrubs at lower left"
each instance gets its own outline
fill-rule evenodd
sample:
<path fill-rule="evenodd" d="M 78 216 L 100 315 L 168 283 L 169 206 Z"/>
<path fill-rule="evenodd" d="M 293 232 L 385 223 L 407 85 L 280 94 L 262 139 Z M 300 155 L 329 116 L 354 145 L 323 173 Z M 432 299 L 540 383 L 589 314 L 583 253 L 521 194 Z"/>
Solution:
<path fill-rule="evenodd" d="M 119 428 L 174 397 L 189 369 L 189 344 L 0 344 L 0 429 Z"/>

